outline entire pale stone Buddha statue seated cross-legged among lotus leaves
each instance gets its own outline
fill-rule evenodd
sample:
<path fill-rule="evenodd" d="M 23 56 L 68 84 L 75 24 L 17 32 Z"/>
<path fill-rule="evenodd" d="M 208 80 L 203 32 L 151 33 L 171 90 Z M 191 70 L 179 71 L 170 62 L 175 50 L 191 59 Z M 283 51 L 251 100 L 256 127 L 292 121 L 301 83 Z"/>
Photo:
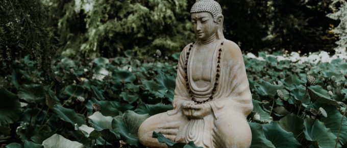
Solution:
<path fill-rule="evenodd" d="M 197 0 L 190 13 L 197 39 L 180 56 L 174 109 L 147 118 L 139 140 L 147 147 L 167 147 L 152 138 L 155 131 L 202 147 L 250 147 L 246 117 L 253 104 L 241 50 L 224 38 L 217 2 Z"/>

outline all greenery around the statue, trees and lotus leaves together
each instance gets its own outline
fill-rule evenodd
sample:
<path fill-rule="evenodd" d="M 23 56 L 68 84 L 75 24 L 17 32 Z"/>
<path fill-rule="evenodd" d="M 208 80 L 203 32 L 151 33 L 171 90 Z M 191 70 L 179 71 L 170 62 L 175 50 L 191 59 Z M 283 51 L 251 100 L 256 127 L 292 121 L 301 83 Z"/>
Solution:
<path fill-rule="evenodd" d="M 345 61 L 266 56 L 344 52 L 347 3 L 218 2 L 226 38 L 265 59 L 244 57 L 252 147 L 347 145 Z M 193 3 L 1 0 L 1 146 L 141 147 L 141 121 L 172 108 L 178 52 L 194 41 Z M 307 84 L 308 75 L 316 86 Z"/>

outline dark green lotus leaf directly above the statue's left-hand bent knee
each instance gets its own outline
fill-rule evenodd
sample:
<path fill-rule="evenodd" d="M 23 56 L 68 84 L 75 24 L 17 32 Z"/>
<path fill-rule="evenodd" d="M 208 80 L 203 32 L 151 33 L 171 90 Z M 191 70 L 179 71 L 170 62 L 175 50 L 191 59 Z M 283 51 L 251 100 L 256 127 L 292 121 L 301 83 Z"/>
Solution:
<path fill-rule="evenodd" d="M 135 109 L 135 112 L 138 114 L 149 114 L 150 116 L 153 116 L 158 113 L 166 112 L 168 110 L 172 109 L 172 105 L 164 105 L 162 103 L 158 103 L 155 105 L 152 104 L 145 104 L 141 103 L 137 109 Z"/>

